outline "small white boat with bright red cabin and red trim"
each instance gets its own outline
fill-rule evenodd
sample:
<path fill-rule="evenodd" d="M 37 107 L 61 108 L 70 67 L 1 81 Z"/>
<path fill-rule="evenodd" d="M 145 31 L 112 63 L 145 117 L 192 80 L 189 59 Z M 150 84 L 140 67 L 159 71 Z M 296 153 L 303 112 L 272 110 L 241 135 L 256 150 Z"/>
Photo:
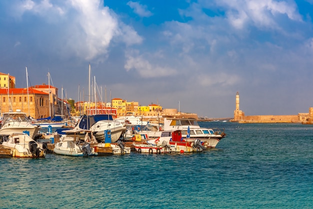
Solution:
<path fill-rule="evenodd" d="M 172 152 L 198 152 L 205 149 L 200 139 L 186 140 L 181 135 L 181 130 L 162 131 L 162 134 L 157 139 L 150 139 L 146 141 L 152 145 L 169 145 Z M 142 149 L 141 149 L 142 150 Z"/>

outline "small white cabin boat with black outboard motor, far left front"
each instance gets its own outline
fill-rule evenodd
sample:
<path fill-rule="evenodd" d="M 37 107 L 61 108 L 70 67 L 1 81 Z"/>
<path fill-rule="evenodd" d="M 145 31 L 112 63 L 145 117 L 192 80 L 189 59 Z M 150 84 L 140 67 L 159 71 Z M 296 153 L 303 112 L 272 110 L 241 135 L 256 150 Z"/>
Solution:
<path fill-rule="evenodd" d="M 44 157 L 46 143 L 37 143 L 25 133 L 11 133 L 2 146 L 12 150 L 13 157 Z"/>

